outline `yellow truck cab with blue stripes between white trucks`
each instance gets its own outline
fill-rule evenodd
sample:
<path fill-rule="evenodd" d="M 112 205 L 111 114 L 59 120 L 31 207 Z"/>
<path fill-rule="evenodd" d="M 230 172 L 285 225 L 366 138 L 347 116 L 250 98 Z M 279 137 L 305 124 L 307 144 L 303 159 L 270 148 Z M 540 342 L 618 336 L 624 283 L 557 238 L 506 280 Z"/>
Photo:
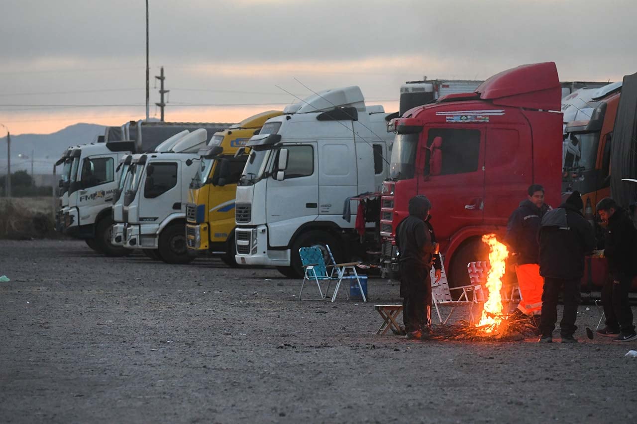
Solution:
<path fill-rule="evenodd" d="M 199 151 L 199 171 L 190 183 L 186 206 L 186 241 L 189 253 L 209 253 L 225 264 L 234 259 L 234 195 L 248 159 L 245 145 L 269 118 L 281 111 L 266 111 L 246 118 L 224 131 L 215 132 L 206 148 Z"/>

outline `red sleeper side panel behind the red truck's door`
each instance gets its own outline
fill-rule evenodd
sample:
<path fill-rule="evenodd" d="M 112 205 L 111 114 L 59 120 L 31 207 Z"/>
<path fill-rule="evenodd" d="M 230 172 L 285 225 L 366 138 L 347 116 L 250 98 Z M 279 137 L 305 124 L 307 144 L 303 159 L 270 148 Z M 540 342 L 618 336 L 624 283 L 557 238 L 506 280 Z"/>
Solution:
<path fill-rule="evenodd" d="M 506 225 L 533 184 L 531 134 L 522 125 L 489 127 L 485 145 L 484 222 Z"/>

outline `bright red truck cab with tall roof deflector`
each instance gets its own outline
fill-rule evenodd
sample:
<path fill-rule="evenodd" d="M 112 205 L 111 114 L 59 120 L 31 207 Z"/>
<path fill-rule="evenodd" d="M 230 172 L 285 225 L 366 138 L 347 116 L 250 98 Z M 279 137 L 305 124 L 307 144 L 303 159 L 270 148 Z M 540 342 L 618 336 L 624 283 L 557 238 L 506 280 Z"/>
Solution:
<path fill-rule="evenodd" d="M 561 200 L 561 85 L 554 62 L 508 69 L 467 94 L 406 111 L 396 132 L 390 178 L 383 184 L 380 231 L 385 271 L 397 270 L 396 226 L 409 199 L 431 200 L 450 286 L 468 283 L 466 267 L 486 260 L 480 237 L 504 236 L 508 216 L 529 185 Z"/>

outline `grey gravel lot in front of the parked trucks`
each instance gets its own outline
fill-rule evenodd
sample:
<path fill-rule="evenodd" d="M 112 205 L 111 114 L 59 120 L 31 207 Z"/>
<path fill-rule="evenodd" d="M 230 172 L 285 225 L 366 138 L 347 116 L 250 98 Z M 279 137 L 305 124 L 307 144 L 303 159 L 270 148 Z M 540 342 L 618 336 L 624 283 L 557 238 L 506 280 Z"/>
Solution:
<path fill-rule="evenodd" d="M 594 306 L 576 346 L 413 342 L 375 335 L 382 279 L 369 304 L 298 302 L 273 269 L 78 241 L 0 241 L 0 274 L 0 421 L 637 421 L 637 343 L 586 339 Z"/>

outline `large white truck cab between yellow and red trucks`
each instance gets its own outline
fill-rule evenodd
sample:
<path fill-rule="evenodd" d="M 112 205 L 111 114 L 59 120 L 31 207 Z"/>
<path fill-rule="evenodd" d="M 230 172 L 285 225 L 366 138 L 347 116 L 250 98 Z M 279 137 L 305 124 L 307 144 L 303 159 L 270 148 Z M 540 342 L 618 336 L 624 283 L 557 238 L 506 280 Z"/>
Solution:
<path fill-rule="evenodd" d="M 357 202 L 347 203 L 349 221 L 344 209 L 348 197 L 382 188 L 391 116 L 365 106 L 352 86 L 311 95 L 269 119 L 247 143 L 252 150 L 236 190 L 236 262 L 301 276 L 303 246 L 329 244 L 336 260 L 364 257 L 375 223 L 361 237 Z"/>

